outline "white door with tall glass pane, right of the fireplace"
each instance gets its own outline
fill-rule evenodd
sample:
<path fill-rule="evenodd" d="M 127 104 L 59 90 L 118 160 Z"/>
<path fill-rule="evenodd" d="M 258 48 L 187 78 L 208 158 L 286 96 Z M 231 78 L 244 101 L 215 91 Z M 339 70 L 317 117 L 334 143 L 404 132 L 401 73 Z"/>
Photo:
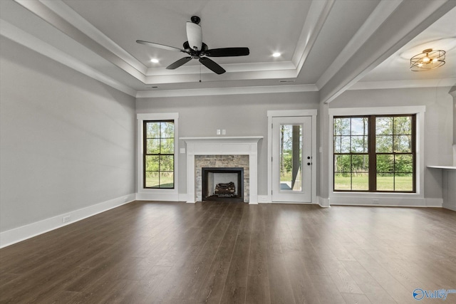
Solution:
<path fill-rule="evenodd" d="M 312 118 L 272 117 L 272 201 L 311 202 Z"/>

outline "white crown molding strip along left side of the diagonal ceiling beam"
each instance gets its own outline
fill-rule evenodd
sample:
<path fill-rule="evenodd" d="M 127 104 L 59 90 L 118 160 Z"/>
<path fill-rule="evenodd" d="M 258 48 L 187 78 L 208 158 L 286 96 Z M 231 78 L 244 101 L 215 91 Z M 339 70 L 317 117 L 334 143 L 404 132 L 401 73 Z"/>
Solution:
<path fill-rule="evenodd" d="M 341 53 L 324 71 L 321 77 L 317 80 L 316 86 L 323 88 L 326 83 L 342 68 L 342 66 L 363 46 L 363 43 L 373 35 L 377 28 L 385 22 L 388 17 L 393 14 L 393 11 L 398 8 L 400 1 L 380 1 L 375 7 L 371 15 L 366 19 L 363 25 L 356 31 L 355 35 L 348 41 Z"/>

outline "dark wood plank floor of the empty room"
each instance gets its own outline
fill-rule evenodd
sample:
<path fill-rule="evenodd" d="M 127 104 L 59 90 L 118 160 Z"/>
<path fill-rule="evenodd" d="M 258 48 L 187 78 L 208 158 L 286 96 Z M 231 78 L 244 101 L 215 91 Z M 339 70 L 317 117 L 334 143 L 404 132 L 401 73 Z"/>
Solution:
<path fill-rule="evenodd" d="M 456 289 L 456 212 L 136 201 L 1 249 L 0 284 L 0 303 L 417 303 Z"/>

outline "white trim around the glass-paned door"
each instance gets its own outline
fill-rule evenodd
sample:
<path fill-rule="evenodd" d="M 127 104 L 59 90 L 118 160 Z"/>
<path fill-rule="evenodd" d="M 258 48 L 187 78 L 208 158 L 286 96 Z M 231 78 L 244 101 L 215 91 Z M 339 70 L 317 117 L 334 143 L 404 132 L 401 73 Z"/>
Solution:
<path fill-rule="evenodd" d="M 316 116 L 317 110 L 269 110 L 268 116 L 268 195 L 267 202 L 272 202 L 272 117 L 300 117 L 311 116 L 312 118 L 312 162 L 314 167 L 312 169 L 312 186 L 311 186 L 311 204 L 316 204 L 316 164 L 318 164 L 316 154 Z M 277 202 L 279 204 L 279 202 Z"/>

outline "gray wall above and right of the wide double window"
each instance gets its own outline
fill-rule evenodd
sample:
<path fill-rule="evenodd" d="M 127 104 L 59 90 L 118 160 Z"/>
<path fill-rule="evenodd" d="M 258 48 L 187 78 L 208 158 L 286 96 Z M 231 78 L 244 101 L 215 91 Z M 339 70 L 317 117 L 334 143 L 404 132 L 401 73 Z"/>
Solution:
<path fill-rule="evenodd" d="M 452 164 L 453 111 L 450 88 L 349 90 L 330 108 L 425 105 L 425 166 Z M 425 198 L 442 198 L 442 172 L 425 168 Z"/>

